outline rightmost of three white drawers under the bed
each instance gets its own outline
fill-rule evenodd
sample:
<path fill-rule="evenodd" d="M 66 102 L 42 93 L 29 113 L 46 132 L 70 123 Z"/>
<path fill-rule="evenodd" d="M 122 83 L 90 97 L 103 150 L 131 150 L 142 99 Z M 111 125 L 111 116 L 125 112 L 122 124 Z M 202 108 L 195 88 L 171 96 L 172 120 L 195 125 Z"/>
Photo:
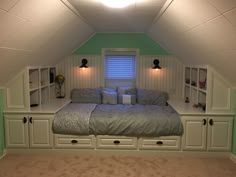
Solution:
<path fill-rule="evenodd" d="M 179 150 L 180 137 L 167 136 L 157 138 L 140 138 L 139 149 Z"/>

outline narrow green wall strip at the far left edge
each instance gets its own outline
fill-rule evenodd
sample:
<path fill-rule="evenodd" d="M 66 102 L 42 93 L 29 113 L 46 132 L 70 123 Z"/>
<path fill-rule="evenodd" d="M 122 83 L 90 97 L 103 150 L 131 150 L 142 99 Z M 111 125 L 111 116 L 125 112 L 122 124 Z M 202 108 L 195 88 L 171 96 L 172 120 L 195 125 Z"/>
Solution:
<path fill-rule="evenodd" d="M 4 148 L 3 90 L 0 89 L 0 156 L 2 155 Z"/>

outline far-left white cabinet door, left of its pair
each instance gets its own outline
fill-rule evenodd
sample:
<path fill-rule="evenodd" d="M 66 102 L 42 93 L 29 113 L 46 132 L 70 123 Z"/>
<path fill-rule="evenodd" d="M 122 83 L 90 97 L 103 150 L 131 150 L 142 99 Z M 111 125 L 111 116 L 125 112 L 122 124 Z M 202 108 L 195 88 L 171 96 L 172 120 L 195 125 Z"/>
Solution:
<path fill-rule="evenodd" d="M 27 116 L 5 116 L 7 148 L 29 147 Z"/>

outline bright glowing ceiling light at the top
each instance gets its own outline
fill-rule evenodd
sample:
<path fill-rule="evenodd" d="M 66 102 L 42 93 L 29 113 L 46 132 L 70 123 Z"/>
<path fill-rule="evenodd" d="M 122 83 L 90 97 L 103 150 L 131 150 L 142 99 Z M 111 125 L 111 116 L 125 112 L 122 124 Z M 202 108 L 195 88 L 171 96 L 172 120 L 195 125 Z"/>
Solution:
<path fill-rule="evenodd" d="M 142 0 L 100 0 L 105 6 L 112 8 L 124 8 L 138 1 Z"/>

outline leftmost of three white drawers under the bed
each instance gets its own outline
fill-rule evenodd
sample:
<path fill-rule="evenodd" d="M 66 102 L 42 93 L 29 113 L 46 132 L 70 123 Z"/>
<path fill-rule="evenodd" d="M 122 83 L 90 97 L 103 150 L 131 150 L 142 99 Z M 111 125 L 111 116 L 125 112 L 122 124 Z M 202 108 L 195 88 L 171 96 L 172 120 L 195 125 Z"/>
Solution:
<path fill-rule="evenodd" d="M 95 148 L 95 137 L 91 136 L 73 136 L 73 135 L 55 135 L 55 148 Z"/>

